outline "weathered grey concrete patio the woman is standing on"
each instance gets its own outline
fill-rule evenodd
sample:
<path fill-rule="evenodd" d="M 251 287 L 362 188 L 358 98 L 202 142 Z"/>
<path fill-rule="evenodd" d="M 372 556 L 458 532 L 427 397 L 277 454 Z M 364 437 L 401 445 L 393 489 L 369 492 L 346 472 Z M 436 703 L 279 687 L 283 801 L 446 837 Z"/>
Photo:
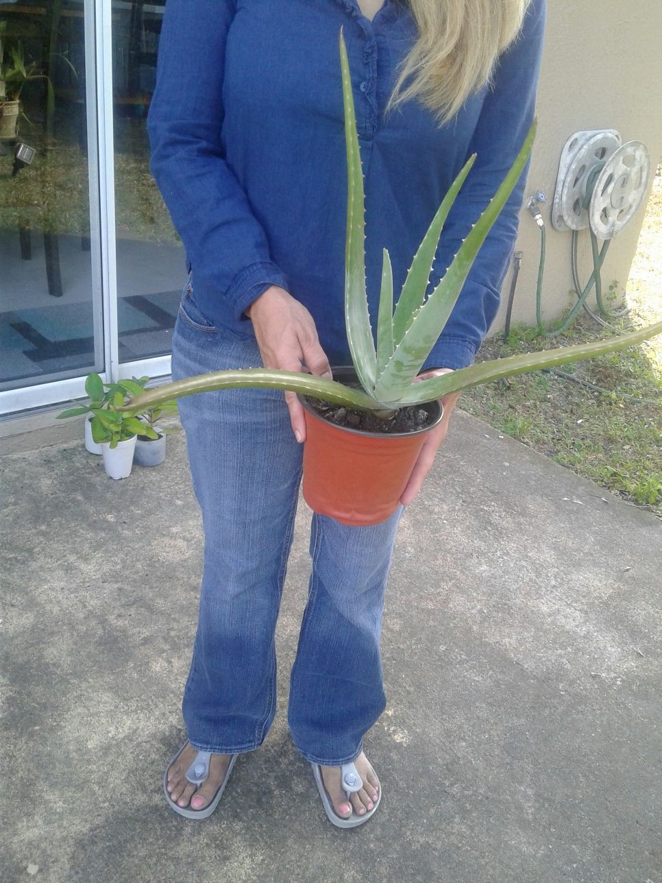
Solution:
<path fill-rule="evenodd" d="M 0 469 L 3 883 L 662 880 L 654 517 L 454 418 L 396 547 L 366 744 L 384 799 L 345 833 L 285 724 L 302 503 L 275 725 L 196 824 L 161 785 L 201 565 L 183 436 L 122 482 L 78 442 Z"/>

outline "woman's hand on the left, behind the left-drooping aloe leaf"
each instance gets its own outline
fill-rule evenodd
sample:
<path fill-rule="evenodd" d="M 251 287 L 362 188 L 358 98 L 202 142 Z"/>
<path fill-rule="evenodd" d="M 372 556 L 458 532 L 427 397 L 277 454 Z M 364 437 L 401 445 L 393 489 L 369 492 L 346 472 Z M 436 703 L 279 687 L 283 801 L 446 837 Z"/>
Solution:
<path fill-rule="evenodd" d="M 312 315 L 283 288 L 272 285 L 245 311 L 266 368 L 303 371 L 331 380 L 331 368 L 320 346 Z M 285 393 L 297 442 L 305 441 L 304 409 L 293 392 Z"/>

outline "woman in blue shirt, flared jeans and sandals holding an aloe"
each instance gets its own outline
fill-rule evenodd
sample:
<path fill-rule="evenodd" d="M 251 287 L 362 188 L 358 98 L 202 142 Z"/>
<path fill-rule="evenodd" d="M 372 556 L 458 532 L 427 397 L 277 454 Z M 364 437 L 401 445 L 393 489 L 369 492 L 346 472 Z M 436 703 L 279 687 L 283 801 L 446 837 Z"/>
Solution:
<path fill-rule="evenodd" d="M 176 379 L 259 366 L 330 376 L 349 352 L 342 306 L 346 169 L 338 34 L 365 171 L 372 315 L 381 249 L 395 291 L 448 185 L 478 161 L 435 261 L 443 275 L 529 129 L 545 0 L 169 0 L 149 115 L 152 169 L 189 263 Z M 523 181 L 485 242 L 427 374 L 470 365 L 499 304 Z M 446 435 L 428 436 L 409 503 Z M 235 390 L 181 403 L 205 529 L 199 626 L 184 691 L 189 742 L 164 776 L 171 808 L 206 818 L 237 754 L 275 709 L 274 630 L 301 476 L 294 396 Z M 402 507 L 374 527 L 312 518 L 310 594 L 290 731 L 328 818 L 380 802 L 363 737 L 385 706 L 380 621 Z"/>

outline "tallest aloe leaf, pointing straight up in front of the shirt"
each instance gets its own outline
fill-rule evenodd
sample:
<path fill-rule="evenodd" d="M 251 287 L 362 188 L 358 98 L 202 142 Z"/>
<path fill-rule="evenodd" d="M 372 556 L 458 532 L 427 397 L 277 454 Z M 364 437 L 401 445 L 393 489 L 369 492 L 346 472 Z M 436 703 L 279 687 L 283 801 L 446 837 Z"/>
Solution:
<path fill-rule="evenodd" d="M 340 33 L 342 102 L 347 151 L 347 235 L 345 238 L 345 326 L 352 362 L 366 392 L 374 388 L 377 355 L 372 340 L 368 298 L 365 292 L 365 194 L 357 120 L 351 92 L 350 63 Z"/>

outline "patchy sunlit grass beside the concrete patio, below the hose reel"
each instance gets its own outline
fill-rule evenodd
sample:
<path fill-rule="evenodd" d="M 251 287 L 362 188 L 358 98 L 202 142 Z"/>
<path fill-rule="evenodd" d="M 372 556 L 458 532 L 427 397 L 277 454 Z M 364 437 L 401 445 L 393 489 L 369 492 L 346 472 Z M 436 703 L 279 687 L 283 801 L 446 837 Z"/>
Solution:
<path fill-rule="evenodd" d="M 580 321 L 551 341 L 535 328 L 515 328 L 507 342 L 494 336 L 485 341 L 478 361 L 598 340 L 660 321 L 661 278 L 662 177 L 658 175 L 625 293 L 628 313 L 608 320 L 616 330 L 601 328 L 581 313 Z M 612 283 L 607 298 L 620 308 L 618 289 L 618 283 Z M 564 370 L 575 380 L 527 374 L 470 389 L 463 393 L 461 406 L 662 518 L 662 336 Z"/>

